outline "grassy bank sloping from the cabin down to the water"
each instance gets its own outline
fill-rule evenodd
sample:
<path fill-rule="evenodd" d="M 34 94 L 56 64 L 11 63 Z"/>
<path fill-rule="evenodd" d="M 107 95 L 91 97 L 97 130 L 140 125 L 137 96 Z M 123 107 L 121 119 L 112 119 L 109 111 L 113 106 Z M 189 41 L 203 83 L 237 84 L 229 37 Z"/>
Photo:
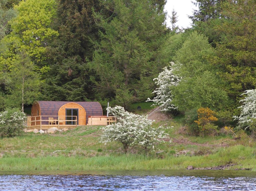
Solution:
<path fill-rule="evenodd" d="M 0 139 L 1 170 L 154 170 L 185 169 L 236 164 L 230 169 L 251 168 L 256 171 L 256 145 L 250 140 L 233 140 L 229 136 L 193 137 L 180 134 L 181 124 L 174 120 L 154 125 L 174 126 L 166 132 L 172 143 L 161 153 L 146 156 L 140 148 L 122 152 L 118 143 L 101 144 L 99 126 L 78 127 L 63 133 L 25 133 Z"/>

